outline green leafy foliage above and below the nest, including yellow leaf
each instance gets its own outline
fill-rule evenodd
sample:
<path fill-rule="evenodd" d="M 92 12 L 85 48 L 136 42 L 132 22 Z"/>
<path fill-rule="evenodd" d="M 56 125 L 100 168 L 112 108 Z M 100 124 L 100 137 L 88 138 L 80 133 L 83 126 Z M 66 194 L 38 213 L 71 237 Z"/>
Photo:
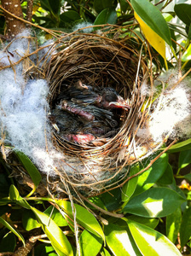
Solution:
<path fill-rule="evenodd" d="M 36 0 L 32 22 L 64 32 L 82 22 L 90 22 L 98 28 L 107 23 L 124 26 L 124 30 L 125 26 L 132 26 L 134 32 L 142 40 L 145 37 L 152 44 L 153 51 L 159 52 L 165 61 L 165 44 L 171 47 L 174 55 L 174 58 L 171 55 L 171 62 L 176 63 L 177 55 L 182 52 L 182 68 L 188 70 L 191 6 L 177 4 L 173 13 L 168 14 L 166 20 L 173 16 L 182 20 L 182 25 L 177 28 L 176 24 L 165 21 L 162 14 L 165 3 L 163 6 L 153 6 L 146 0 L 132 0 L 130 3 L 125 0 Z M 150 15 L 144 11 L 145 4 L 148 10 L 152 10 Z M 26 13 L 26 1 L 23 1 L 22 8 Z M 139 25 L 135 25 L 134 11 L 144 36 Z M 3 15 L 0 22 L 4 24 Z M 179 29 L 181 34 L 176 33 Z M 157 40 L 151 42 L 150 38 L 155 34 L 165 42 L 162 46 Z M 182 47 L 173 44 L 171 38 L 173 42 L 179 40 Z M 163 59 L 160 64 L 167 68 L 170 62 L 165 63 Z M 32 196 L 42 177 L 24 154 L 18 152 L 16 155 L 32 178 L 34 188 L 29 194 L 19 189 L 17 181 L 9 178 L 12 170 L 1 159 L 0 252 L 14 252 L 15 248 L 28 245 L 31 241 L 27 239 L 32 237 L 38 241 L 35 246 L 33 244 L 35 255 L 75 255 L 78 249 L 75 247 L 76 223 L 79 251 L 84 256 L 162 256 L 182 255 L 183 250 L 191 252 L 191 139 L 173 145 L 145 172 L 142 170 L 148 166 L 149 160 L 131 166 L 128 177 L 134 177 L 128 183 L 89 198 L 91 204 L 87 202 L 84 206 L 67 198 Z M 181 184 L 182 180 L 184 183 Z M 73 212 L 76 212 L 75 216 Z M 9 247 L 8 241 L 11 241 Z"/>

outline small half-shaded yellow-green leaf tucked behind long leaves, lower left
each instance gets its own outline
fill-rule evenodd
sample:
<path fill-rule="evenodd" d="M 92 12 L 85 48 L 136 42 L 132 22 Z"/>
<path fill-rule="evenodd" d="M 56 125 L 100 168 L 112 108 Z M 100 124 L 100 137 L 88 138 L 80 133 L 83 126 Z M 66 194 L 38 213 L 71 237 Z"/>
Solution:
<path fill-rule="evenodd" d="M 52 218 L 55 221 L 55 224 L 57 224 L 59 227 L 67 226 L 67 220 L 55 207 L 50 206 L 43 213 L 47 214 L 50 218 Z"/>

